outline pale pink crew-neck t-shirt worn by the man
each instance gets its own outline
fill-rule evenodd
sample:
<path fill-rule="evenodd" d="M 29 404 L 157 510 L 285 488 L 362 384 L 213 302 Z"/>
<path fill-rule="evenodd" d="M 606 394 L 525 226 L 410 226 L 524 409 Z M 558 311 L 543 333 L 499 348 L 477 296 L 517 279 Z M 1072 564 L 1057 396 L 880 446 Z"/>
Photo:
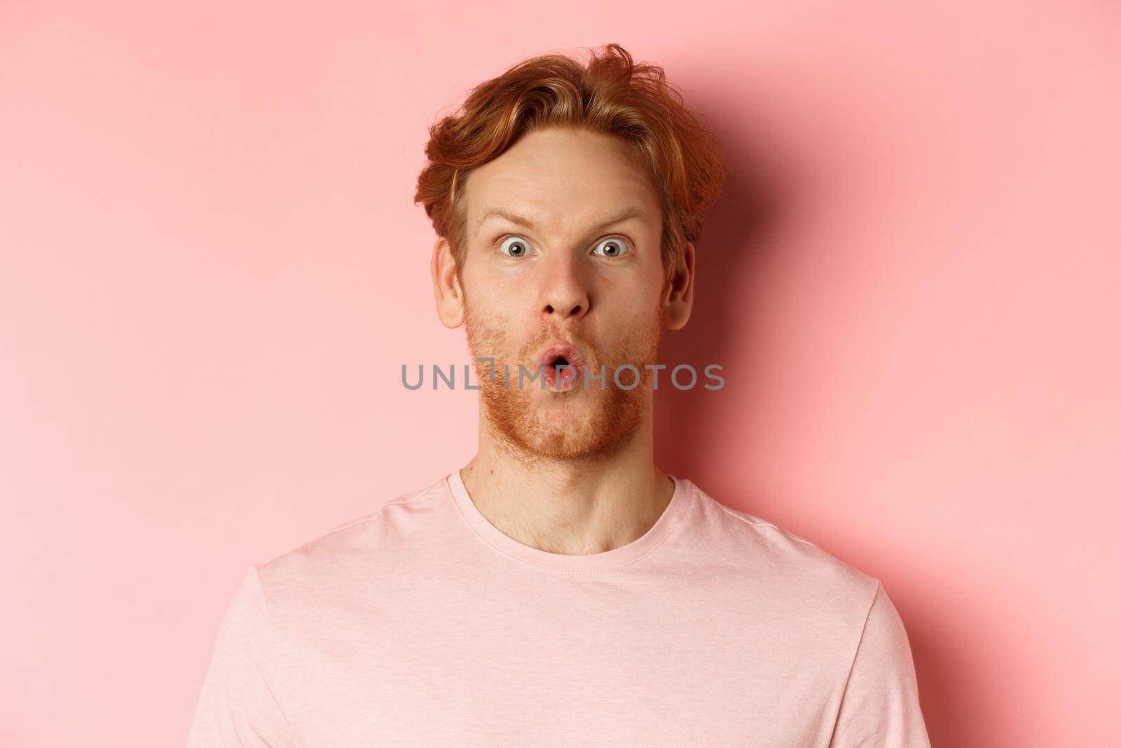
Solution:
<path fill-rule="evenodd" d="M 879 581 L 674 480 L 603 553 L 515 541 L 455 471 L 252 565 L 188 747 L 929 746 Z"/>

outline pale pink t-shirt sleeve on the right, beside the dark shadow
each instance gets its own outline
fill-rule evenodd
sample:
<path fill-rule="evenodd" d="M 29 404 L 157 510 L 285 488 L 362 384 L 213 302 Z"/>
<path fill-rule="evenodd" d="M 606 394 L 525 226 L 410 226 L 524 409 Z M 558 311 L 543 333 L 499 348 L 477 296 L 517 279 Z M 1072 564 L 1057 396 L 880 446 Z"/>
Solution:
<path fill-rule="evenodd" d="M 881 584 L 849 673 L 830 748 L 929 748 L 910 643 Z"/>

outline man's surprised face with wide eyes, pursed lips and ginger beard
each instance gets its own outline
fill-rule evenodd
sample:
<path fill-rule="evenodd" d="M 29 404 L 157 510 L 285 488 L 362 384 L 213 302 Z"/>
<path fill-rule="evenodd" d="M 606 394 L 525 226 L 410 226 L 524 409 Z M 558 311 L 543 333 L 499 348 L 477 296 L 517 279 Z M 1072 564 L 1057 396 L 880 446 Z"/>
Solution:
<path fill-rule="evenodd" d="M 475 362 L 484 416 L 524 454 L 610 452 L 652 401 L 645 364 L 657 361 L 667 288 L 652 173 L 619 138 L 546 128 L 476 168 L 464 196 L 467 343 L 494 360 Z M 565 344 L 575 379 L 549 366 Z M 632 369 L 615 384 L 627 363 L 641 375 L 633 389 Z M 519 385 L 519 366 L 546 389 Z M 603 367 L 602 381 L 589 378 Z"/>

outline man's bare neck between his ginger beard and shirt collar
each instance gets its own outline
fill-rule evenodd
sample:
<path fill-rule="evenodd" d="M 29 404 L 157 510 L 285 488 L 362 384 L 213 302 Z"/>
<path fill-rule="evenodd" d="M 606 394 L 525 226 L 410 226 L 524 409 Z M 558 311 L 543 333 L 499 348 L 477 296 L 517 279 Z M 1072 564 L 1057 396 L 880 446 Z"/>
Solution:
<path fill-rule="evenodd" d="M 519 453 L 480 418 L 479 452 L 460 472 L 475 507 L 503 534 L 569 555 L 602 553 L 645 535 L 674 493 L 654 463 L 650 410 L 610 453 L 546 459 Z"/>

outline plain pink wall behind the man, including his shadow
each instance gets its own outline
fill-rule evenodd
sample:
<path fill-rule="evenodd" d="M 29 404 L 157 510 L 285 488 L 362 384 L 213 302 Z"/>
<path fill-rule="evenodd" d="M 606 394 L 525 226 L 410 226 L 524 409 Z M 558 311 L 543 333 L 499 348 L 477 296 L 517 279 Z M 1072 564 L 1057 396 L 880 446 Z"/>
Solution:
<path fill-rule="evenodd" d="M 733 170 L 660 464 L 883 582 L 936 746 L 1119 745 L 1121 9 L 927 4 L 0 4 L 0 745 L 182 745 L 248 564 L 470 459 L 426 127 L 608 41 Z"/>

